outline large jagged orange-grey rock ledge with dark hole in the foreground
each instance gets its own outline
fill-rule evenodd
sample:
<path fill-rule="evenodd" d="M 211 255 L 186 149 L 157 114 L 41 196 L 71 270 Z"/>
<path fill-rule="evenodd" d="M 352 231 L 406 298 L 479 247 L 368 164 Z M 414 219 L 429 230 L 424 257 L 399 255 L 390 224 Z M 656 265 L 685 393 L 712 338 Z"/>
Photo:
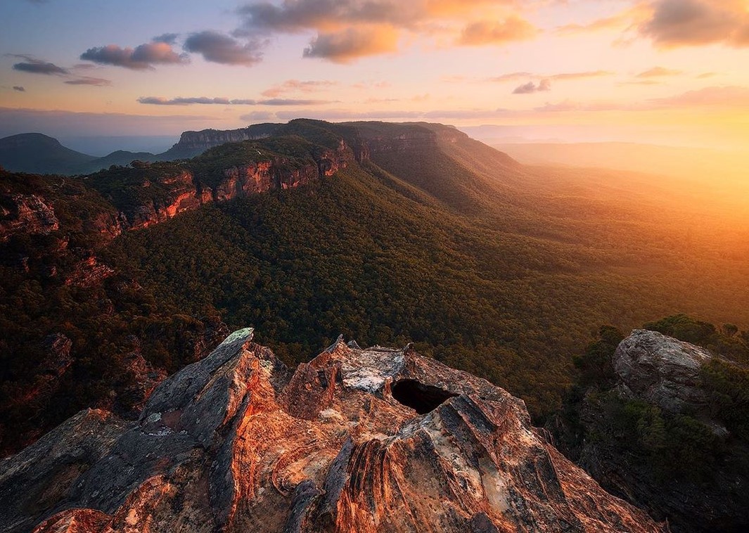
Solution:
<path fill-rule="evenodd" d="M 291 373 L 230 335 L 137 423 L 79 412 L 0 463 L 4 532 L 659 532 L 524 403 L 405 347 L 339 338 Z"/>

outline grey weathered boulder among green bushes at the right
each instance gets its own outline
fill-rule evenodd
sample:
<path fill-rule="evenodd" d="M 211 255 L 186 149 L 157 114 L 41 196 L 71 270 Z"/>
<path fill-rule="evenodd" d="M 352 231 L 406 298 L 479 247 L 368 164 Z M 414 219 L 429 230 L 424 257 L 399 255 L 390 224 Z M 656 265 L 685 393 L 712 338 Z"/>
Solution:
<path fill-rule="evenodd" d="M 616 376 L 635 396 L 670 412 L 699 408 L 706 402 L 700 368 L 712 359 L 708 350 L 658 332 L 635 329 L 613 356 Z"/>

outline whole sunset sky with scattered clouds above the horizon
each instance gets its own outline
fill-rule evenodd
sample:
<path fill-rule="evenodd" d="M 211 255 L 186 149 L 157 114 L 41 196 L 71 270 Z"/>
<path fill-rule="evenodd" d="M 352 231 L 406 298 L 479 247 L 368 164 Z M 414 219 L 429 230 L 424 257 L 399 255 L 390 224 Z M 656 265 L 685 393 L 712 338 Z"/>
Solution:
<path fill-rule="evenodd" d="M 749 145 L 749 0 L 2 0 L 0 136 L 292 118 Z"/>

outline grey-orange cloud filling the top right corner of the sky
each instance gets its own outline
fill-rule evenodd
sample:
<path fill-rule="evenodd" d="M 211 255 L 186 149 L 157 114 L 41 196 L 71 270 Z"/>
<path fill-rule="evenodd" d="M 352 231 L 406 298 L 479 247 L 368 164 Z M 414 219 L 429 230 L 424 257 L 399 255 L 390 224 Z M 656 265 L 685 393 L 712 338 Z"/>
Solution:
<path fill-rule="evenodd" d="M 656 0 L 640 34 L 663 48 L 724 43 L 749 46 L 745 0 Z"/>

